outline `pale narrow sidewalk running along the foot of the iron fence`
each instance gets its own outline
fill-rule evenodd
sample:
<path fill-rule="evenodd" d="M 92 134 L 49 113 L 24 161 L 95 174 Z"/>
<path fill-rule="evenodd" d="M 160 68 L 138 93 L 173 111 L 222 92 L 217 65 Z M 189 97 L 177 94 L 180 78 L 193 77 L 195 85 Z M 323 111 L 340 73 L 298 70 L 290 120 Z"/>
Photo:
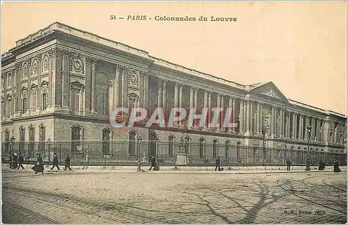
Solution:
<path fill-rule="evenodd" d="M 1 165 L 1 170 L 2 171 L 9 171 L 9 172 L 33 172 L 31 170 L 31 167 L 33 165 L 24 165 L 24 170 L 22 169 L 10 169 L 7 164 L 2 164 Z M 61 165 L 61 170 L 58 171 L 56 168 L 52 171 L 49 168 L 52 166 L 47 166 L 45 165 L 45 172 L 47 173 L 54 173 L 54 172 L 59 172 L 59 173 L 69 173 L 70 171 L 64 171 L 63 168 L 64 166 Z M 178 174 L 278 174 L 278 173 L 328 173 L 331 172 L 333 173 L 333 166 L 326 166 L 325 171 L 319 171 L 318 167 L 310 167 L 310 171 L 305 171 L 305 166 L 294 166 L 292 167 L 290 171 L 286 170 L 286 167 L 276 167 L 276 166 L 267 166 L 267 167 L 223 167 L 224 170 L 220 172 L 215 172 L 214 169 L 215 167 L 159 167 L 159 171 L 149 171 L 148 166 L 142 166 L 141 169 L 143 170 L 142 172 L 150 172 L 150 173 L 164 173 L 164 174 L 169 174 L 169 173 L 178 173 Z M 119 173 L 136 173 L 138 167 L 136 166 L 109 166 L 109 167 L 103 167 L 103 166 L 72 166 L 72 171 L 74 173 L 108 173 L 108 172 L 119 172 Z M 347 171 L 346 166 L 340 167 L 342 172 Z"/>

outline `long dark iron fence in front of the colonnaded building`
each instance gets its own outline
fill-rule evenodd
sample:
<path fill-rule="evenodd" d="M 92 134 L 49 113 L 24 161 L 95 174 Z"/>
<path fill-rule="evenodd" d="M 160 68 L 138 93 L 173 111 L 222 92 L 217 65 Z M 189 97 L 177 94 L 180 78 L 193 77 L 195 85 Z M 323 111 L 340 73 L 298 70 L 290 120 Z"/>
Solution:
<path fill-rule="evenodd" d="M 13 153 L 21 153 L 24 163 L 34 163 L 41 154 L 44 162 L 51 164 L 54 153 L 61 163 L 68 154 L 72 165 L 138 165 L 150 164 L 150 156 L 156 156 L 160 166 L 187 165 L 212 166 L 216 158 L 221 158 L 222 166 L 285 165 L 289 159 L 292 165 L 306 165 L 309 153 L 310 165 L 318 165 L 322 160 L 333 165 L 347 165 L 346 153 L 324 151 L 303 151 L 246 147 L 231 144 L 207 144 L 155 141 L 117 142 L 2 142 L 2 160 L 9 160 Z"/>

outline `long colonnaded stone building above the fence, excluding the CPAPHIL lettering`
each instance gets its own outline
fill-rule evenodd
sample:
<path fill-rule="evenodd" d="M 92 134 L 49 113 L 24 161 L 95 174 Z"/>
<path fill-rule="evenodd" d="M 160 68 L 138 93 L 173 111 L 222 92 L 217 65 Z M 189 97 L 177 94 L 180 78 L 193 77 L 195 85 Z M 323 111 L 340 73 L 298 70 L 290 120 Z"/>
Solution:
<path fill-rule="evenodd" d="M 236 128 L 113 128 L 116 106 L 230 107 Z M 1 56 L 1 138 L 16 142 L 133 140 L 345 152 L 345 115 L 285 97 L 274 83 L 242 85 L 54 23 Z M 307 132 L 308 124 L 311 132 Z"/>

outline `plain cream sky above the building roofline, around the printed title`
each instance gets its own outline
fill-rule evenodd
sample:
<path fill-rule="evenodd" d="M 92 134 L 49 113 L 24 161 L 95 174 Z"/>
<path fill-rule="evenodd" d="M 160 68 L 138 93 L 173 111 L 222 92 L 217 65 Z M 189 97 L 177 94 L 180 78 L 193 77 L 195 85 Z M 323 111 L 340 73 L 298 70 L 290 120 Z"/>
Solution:
<path fill-rule="evenodd" d="M 129 15 L 152 19 L 132 21 Z M 156 16 L 208 21 L 164 22 Z M 347 115 L 345 1 L 1 1 L 1 53 L 57 21 L 244 85 L 272 81 L 288 99 Z"/>

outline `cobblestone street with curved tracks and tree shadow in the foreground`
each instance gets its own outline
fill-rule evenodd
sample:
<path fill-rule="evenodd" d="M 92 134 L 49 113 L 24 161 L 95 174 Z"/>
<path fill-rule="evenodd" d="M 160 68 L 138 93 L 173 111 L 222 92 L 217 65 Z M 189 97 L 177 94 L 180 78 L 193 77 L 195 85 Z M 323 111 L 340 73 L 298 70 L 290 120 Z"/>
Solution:
<path fill-rule="evenodd" d="M 2 170 L 3 223 L 347 222 L 347 173 Z M 19 201 L 20 199 L 20 201 Z"/>

